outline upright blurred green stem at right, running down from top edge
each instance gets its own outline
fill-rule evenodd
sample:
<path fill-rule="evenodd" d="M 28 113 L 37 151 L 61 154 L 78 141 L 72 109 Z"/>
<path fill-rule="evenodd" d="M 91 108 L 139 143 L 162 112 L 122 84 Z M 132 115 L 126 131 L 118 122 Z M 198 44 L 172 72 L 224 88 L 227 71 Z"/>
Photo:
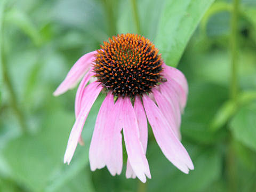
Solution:
<path fill-rule="evenodd" d="M 237 98 L 238 84 L 237 84 L 237 17 L 238 17 L 239 0 L 233 1 L 233 12 L 231 18 L 231 83 L 230 83 L 230 97 L 233 100 Z"/>

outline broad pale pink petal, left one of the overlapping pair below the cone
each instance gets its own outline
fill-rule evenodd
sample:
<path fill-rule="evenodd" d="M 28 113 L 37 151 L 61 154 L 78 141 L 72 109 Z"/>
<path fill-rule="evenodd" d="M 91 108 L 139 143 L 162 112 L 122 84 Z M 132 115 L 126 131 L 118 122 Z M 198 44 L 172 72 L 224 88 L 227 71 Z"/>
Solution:
<path fill-rule="evenodd" d="M 96 169 L 101 169 L 106 165 L 106 140 L 105 140 L 105 132 L 107 132 L 108 126 L 108 118 L 109 112 L 112 110 L 114 106 L 114 97 L 111 93 L 107 94 L 107 97 L 102 102 L 100 107 L 89 150 L 89 160 L 90 167 L 92 171 Z"/>

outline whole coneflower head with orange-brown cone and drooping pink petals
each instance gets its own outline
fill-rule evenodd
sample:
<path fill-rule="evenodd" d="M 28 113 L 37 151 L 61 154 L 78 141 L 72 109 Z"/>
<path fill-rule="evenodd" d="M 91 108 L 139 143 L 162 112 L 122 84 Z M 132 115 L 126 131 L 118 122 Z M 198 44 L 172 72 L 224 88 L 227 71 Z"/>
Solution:
<path fill-rule="evenodd" d="M 75 100 L 76 122 L 69 136 L 65 163 L 70 163 L 77 143 L 82 142 L 87 115 L 103 91 L 106 98 L 99 109 L 89 150 L 92 171 L 107 166 L 112 175 L 121 173 L 123 130 L 128 156 L 126 177 L 138 177 L 142 182 L 146 182 L 146 176 L 151 178 L 146 158 L 147 120 L 166 158 L 184 173 L 194 169 L 180 142 L 187 80 L 181 71 L 165 65 L 148 39 L 134 34 L 113 36 L 100 50 L 81 57 L 54 95 L 73 88 L 82 77 Z M 90 79 L 94 81 L 89 83 Z"/>

